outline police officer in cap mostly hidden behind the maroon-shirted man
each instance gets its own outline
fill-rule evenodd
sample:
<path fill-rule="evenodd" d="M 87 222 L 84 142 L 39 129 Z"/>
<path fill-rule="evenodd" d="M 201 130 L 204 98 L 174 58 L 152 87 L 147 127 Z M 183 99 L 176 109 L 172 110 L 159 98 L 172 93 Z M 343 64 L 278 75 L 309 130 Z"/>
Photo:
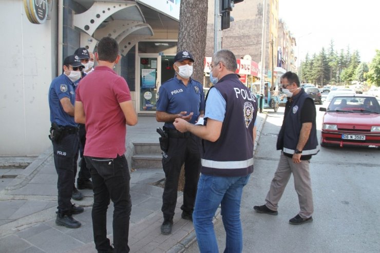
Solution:
<path fill-rule="evenodd" d="M 83 79 L 83 77 L 87 75 L 86 71 L 90 69 L 90 66 L 89 66 L 90 54 L 88 50 L 84 47 L 81 47 L 75 50 L 74 54 L 78 55 L 79 59 L 81 60 L 82 65 L 84 66 L 82 70 L 82 77 L 77 82 L 75 82 L 75 89 L 76 89 L 79 82 Z M 78 125 L 79 125 L 79 138 L 80 138 L 79 153 L 81 155 L 81 161 L 79 162 L 80 170 L 78 173 L 77 187 L 78 189 L 91 190 L 92 189 L 92 182 L 90 180 L 91 174 L 90 174 L 90 170 L 87 168 L 86 161 L 83 157 L 84 146 L 86 144 L 86 127 L 84 124 L 78 124 Z M 75 174 L 76 173 L 77 171 L 75 171 Z M 75 188 L 75 186 L 73 189 L 72 199 L 74 200 L 83 199 L 82 193 L 78 191 L 77 188 Z"/>

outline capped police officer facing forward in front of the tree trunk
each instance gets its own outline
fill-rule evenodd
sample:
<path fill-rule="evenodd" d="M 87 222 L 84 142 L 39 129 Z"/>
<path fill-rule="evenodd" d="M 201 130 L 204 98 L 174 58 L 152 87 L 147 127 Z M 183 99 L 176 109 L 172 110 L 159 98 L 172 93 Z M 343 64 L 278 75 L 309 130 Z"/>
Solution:
<path fill-rule="evenodd" d="M 181 133 L 173 125 L 176 118 L 196 123 L 204 113 L 204 93 L 202 85 L 191 79 L 193 55 L 188 51 L 178 52 L 174 58 L 174 78 L 163 83 L 158 93 L 156 119 L 165 122 L 164 131 L 168 135 L 168 150 L 163 152 L 162 166 L 165 172 L 165 188 L 162 195 L 164 222 L 161 233 L 172 232 L 174 210 L 177 203 L 178 180 L 181 166 L 185 167 L 182 219 L 192 220 L 197 183 L 200 173 L 200 139 L 190 132 Z"/>

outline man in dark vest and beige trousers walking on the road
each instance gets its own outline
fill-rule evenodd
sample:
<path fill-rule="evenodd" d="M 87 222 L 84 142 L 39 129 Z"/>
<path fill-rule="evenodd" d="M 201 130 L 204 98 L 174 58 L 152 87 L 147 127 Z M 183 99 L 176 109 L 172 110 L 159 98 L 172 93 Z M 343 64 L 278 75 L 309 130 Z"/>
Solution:
<path fill-rule="evenodd" d="M 313 99 L 300 88 L 297 74 L 286 72 L 281 76 L 282 91 L 288 96 L 277 150 L 282 150 L 280 161 L 271 187 L 262 206 L 254 206 L 259 213 L 277 215 L 278 202 L 293 173 L 294 187 L 298 194 L 300 211 L 290 224 L 312 222 L 313 194 L 309 171 L 309 160 L 318 152 L 318 141 Z"/>

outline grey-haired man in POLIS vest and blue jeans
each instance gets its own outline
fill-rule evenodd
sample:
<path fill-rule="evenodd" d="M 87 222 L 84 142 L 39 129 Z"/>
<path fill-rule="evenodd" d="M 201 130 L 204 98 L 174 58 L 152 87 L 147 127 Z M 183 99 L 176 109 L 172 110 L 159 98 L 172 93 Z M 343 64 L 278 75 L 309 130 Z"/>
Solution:
<path fill-rule="evenodd" d="M 203 139 L 201 176 L 193 212 L 200 252 L 218 252 L 213 217 L 221 205 L 226 230 L 224 252 L 242 251 L 240 201 L 253 172 L 257 100 L 235 74 L 236 57 L 222 49 L 213 56 L 204 125 L 177 118 L 174 126 Z M 213 77 L 214 76 L 214 77 Z"/>

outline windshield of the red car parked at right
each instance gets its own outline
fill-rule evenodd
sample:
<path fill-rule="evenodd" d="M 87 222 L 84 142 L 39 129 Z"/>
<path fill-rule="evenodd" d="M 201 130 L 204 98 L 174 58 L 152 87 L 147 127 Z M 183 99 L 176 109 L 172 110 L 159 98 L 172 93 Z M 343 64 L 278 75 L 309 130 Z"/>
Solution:
<path fill-rule="evenodd" d="M 371 97 L 334 96 L 327 111 L 380 113 L 380 105 Z"/>

